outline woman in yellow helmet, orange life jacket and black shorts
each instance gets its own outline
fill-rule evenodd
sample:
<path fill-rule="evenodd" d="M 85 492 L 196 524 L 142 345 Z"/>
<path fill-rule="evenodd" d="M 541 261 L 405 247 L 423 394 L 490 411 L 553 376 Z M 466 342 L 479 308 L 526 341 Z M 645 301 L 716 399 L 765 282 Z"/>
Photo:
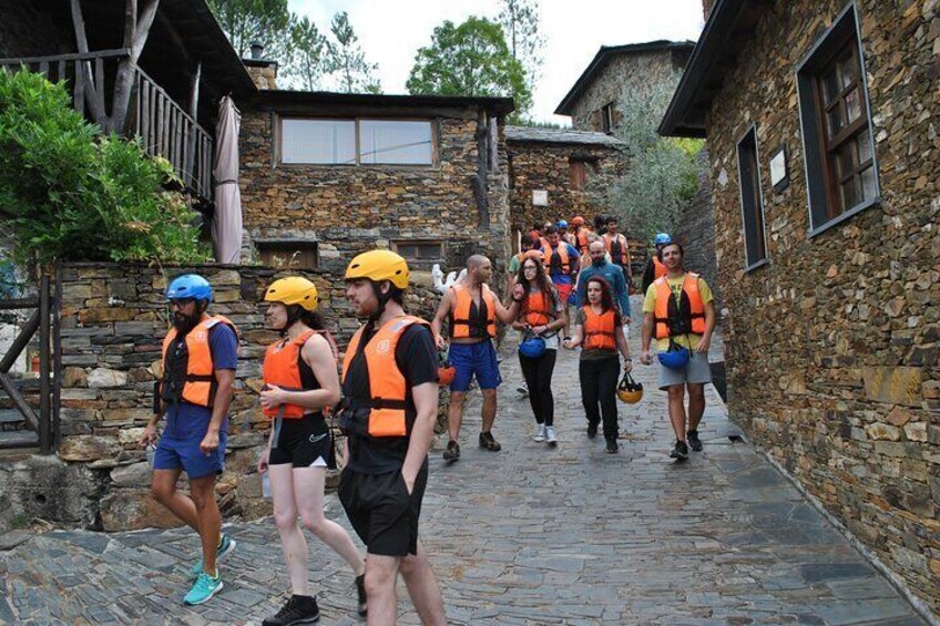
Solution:
<path fill-rule="evenodd" d="M 264 624 L 306 624 L 319 616 L 316 598 L 310 595 L 307 542 L 297 526 L 298 515 L 304 526 L 349 564 L 356 576 L 358 609 L 365 615 L 365 562 L 349 533 L 324 516 L 326 469 L 335 466 L 324 409 L 339 402 L 335 343 L 316 312 L 317 288 L 306 278 L 275 280 L 265 293 L 265 324 L 280 331 L 283 339 L 268 347 L 264 359 L 262 408 L 274 423 L 258 460 L 258 472 L 269 474 L 274 520 L 293 595 Z"/>

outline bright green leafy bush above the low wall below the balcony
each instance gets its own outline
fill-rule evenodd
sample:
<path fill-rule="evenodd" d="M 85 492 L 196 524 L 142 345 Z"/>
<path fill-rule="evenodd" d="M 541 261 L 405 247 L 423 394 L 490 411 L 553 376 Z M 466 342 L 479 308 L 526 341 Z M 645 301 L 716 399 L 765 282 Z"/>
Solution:
<path fill-rule="evenodd" d="M 205 254 L 170 163 L 101 136 L 40 74 L 0 72 L 0 207 L 14 260 L 194 263 Z"/>

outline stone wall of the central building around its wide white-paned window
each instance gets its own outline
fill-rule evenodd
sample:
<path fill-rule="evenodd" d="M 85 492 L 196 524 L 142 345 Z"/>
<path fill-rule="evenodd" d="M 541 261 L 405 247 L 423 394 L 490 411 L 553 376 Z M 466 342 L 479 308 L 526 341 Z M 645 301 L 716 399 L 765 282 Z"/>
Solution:
<path fill-rule="evenodd" d="M 445 242 L 446 269 L 471 254 L 488 254 L 503 267 L 508 254 L 508 176 L 500 124 L 499 167 L 483 189 L 489 214 L 474 196 L 479 172 L 476 111 L 437 117 L 433 166 L 275 165 L 269 111 L 248 110 L 242 120 L 242 206 L 248 238 L 316 242 L 320 267 L 345 268 L 356 253 L 390 242 Z M 419 264 L 420 265 L 420 264 Z M 427 267 L 426 269 L 429 269 Z"/>

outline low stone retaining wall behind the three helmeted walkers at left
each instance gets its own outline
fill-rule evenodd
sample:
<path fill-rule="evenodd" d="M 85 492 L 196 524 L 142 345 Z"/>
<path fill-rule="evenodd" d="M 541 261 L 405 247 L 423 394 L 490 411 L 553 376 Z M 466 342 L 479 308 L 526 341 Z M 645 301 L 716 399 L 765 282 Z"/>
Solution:
<path fill-rule="evenodd" d="M 237 390 L 229 412 L 226 469 L 216 486 L 226 516 L 270 514 L 256 472 L 268 422 L 257 406 L 262 358 L 277 335 L 263 328 L 257 302 L 283 276 L 273 268 L 165 268 L 166 276 L 197 271 L 215 288 L 211 312 L 242 333 Z M 305 273 L 319 288 L 329 329 L 345 349 L 358 327 L 341 275 Z M 33 458 L 0 470 L 0 521 L 39 516 L 105 531 L 178 522 L 149 492 L 150 469 L 136 449 L 152 414 L 155 372 L 167 328 L 166 276 L 144 265 L 73 264 L 63 268 L 61 433 L 58 461 Z M 430 318 L 439 300 L 418 273 L 408 294 L 411 312 Z M 0 524 L 2 527 L 4 524 Z"/>

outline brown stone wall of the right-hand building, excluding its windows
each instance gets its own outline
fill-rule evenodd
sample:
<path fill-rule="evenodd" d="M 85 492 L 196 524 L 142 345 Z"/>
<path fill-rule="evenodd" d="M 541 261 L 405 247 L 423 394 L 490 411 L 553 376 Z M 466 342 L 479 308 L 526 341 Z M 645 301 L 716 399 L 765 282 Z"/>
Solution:
<path fill-rule="evenodd" d="M 767 6 L 712 103 L 729 410 L 940 613 L 940 4 L 856 2 L 881 204 L 809 238 L 794 74 L 845 4 Z M 735 142 L 752 123 L 769 264 L 745 273 Z"/>

